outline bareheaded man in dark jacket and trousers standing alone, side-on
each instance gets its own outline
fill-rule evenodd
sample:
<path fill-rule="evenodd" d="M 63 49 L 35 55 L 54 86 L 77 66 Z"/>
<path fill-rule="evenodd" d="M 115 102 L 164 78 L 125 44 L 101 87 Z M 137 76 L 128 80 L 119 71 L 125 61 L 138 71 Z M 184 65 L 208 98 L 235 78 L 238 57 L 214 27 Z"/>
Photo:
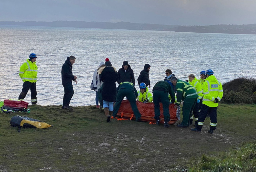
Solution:
<path fill-rule="evenodd" d="M 72 65 L 75 63 L 75 60 L 76 58 L 73 55 L 67 57 L 67 60 L 61 68 L 61 81 L 64 87 L 62 109 L 72 110 L 72 108 L 69 106 L 69 103 L 74 94 L 72 81 L 77 83 L 77 76 L 74 76 L 72 73 Z"/>

